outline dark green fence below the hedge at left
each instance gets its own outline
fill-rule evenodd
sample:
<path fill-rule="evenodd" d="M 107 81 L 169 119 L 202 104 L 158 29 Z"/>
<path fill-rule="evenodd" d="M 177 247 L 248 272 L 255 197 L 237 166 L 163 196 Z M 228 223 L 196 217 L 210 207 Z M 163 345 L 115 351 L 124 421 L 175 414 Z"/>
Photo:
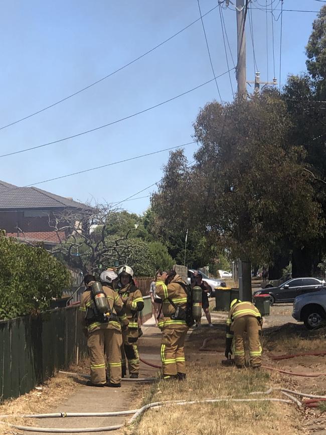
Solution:
<path fill-rule="evenodd" d="M 87 355 L 78 308 L 0 321 L 0 402 L 29 392 Z"/>

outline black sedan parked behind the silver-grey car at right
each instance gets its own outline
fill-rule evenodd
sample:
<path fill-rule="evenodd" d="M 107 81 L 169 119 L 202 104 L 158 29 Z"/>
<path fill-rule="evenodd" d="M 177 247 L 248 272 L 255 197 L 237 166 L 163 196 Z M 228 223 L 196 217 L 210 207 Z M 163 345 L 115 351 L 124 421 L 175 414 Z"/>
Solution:
<path fill-rule="evenodd" d="M 293 302 L 304 293 L 315 292 L 324 287 L 324 281 L 318 278 L 292 278 L 277 287 L 262 288 L 254 292 L 253 298 L 258 295 L 269 295 L 270 305 L 284 302 Z"/>

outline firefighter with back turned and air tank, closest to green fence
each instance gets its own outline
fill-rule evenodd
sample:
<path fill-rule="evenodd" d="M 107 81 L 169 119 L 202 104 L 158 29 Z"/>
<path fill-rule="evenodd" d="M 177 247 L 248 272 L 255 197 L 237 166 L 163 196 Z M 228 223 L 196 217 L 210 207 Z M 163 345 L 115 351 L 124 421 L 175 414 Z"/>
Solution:
<path fill-rule="evenodd" d="M 105 270 L 100 276 L 103 285 L 94 277 L 89 278 L 89 275 L 84 280 L 86 290 L 79 310 L 84 314 L 82 323 L 87 328 L 91 366 L 91 380 L 87 385 L 90 386 L 121 386 L 121 325 L 122 329 L 127 328 L 128 320 L 123 303 L 113 290 L 112 281 L 115 278 L 117 275 L 114 271 Z M 109 377 L 107 384 L 105 359 Z"/>

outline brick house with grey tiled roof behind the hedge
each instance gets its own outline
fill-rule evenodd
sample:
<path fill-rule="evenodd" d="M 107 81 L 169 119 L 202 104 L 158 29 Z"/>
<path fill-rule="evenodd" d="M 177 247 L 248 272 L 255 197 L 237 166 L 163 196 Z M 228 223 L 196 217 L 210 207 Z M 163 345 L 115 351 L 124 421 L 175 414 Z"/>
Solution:
<path fill-rule="evenodd" d="M 0 180 L 0 229 L 6 234 L 28 241 L 43 241 L 54 245 L 64 231 L 57 234 L 51 228 L 55 215 L 66 209 L 78 212 L 85 204 L 64 198 L 37 187 L 18 187 Z"/>

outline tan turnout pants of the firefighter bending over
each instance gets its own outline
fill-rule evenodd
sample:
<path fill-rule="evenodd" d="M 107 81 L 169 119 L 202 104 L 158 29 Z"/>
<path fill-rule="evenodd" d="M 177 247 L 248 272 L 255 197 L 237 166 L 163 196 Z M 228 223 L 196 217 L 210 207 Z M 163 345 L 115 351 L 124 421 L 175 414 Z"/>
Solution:
<path fill-rule="evenodd" d="M 236 365 L 244 365 L 244 333 L 247 333 L 249 341 L 249 357 L 252 367 L 261 365 L 261 346 L 259 342 L 259 330 L 261 329 L 258 320 L 254 316 L 243 316 L 236 319 L 232 325 L 233 337 L 233 354 Z"/>

